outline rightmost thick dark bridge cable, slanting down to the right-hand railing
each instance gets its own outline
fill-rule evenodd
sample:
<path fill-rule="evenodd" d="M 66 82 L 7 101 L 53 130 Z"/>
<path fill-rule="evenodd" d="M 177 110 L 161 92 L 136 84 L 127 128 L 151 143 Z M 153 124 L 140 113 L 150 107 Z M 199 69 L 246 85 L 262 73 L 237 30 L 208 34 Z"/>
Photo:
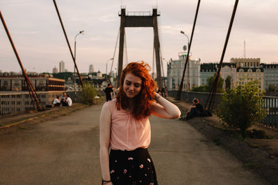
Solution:
<path fill-rule="evenodd" d="M 226 51 L 226 48 L 227 48 L 227 44 L 228 44 L 228 41 L 229 41 L 229 36 L 230 36 L 230 33 L 231 33 L 231 27 L 233 26 L 233 23 L 234 23 L 234 17 L 236 15 L 237 6 L 238 6 L 238 0 L 236 0 L 235 4 L 234 4 L 234 10 L 233 10 L 232 15 L 231 15 L 231 21 L 230 21 L 229 29 L 228 29 L 228 32 L 227 32 L 227 37 L 226 37 L 226 40 L 225 40 L 225 43 L 224 43 L 224 48 L 223 48 L 223 51 L 222 51 L 219 68 L 218 68 L 218 71 L 215 74 L 215 80 L 213 82 L 213 87 L 211 88 L 211 91 L 208 95 L 208 99 L 206 100 L 206 105 L 208 104 L 208 101 L 209 101 L 208 111 L 211 111 L 211 112 L 213 110 L 213 106 L 214 106 L 214 103 L 215 103 L 215 94 L 216 94 L 217 87 L 218 87 L 218 80 L 220 78 L 220 71 L 221 71 L 225 51 Z M 204 109 L 206 108 L 206 105 L 204 106 Z"/>

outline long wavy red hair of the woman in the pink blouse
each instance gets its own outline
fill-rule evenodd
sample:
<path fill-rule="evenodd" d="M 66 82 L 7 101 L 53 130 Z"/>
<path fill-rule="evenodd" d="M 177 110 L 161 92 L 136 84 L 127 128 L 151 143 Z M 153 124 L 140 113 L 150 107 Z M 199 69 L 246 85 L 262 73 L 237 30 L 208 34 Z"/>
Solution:
<path fill-rule="evenodd" d="M 149 75 L 151 67 L 145 62 L 131 62 L 126 65 L 121 74 L 120 89 L 117 94 L 117 109 L 129 107 L 129 98 L 124 93 L 124 78 L 127 73 L 138 76 L 142 80 L 140 93 L 133 98 L 133 109 L 131 114 L 140 120 L 151 114 L 150 105 L 154 100 L 156 83 Z"/>

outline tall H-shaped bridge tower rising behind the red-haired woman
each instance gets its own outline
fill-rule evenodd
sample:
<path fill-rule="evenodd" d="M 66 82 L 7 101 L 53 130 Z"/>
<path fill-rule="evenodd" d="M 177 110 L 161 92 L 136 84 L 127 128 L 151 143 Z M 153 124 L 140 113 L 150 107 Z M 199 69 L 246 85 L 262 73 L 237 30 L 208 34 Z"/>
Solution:
<path fill-rule="evenodd" d="M 124 28 L 126 27 L 153 27 L 154 28 L 154 50 L 156 55 L 156 76 L 157 76 L 157 85 L 161 89 L 161 49 L 160 42 L 158 37 L 158 24 L 157 17 L 160 16 L 160 13 L 157 11 L 157 8 L 153 8 L 152 12 L 126 12 L 124 6 L 121 8 L 119 13 L 121 17 L 120 23 L 120 49 L 119 49 L 119 60 L 118 60 L 118 69 L 117 69 L 117 87 L 120 87 L 120 77 L 122 73 L 122 64 L 124 58 Z"/>

